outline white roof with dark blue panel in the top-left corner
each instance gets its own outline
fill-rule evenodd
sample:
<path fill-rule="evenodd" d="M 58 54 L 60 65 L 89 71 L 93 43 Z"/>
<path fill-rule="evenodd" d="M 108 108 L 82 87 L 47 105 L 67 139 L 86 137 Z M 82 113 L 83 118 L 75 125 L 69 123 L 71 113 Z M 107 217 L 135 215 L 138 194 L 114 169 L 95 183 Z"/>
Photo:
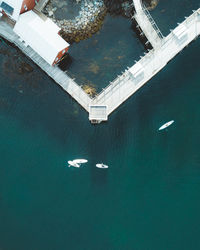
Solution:
<path fill-rule="evenodd" d="M 22 2 L 23 0 L 0 0 L 0 6 L 9 16 L 17 21 L 20 15 Z M 10 12 L 11 9 L 12 11 Z"/>

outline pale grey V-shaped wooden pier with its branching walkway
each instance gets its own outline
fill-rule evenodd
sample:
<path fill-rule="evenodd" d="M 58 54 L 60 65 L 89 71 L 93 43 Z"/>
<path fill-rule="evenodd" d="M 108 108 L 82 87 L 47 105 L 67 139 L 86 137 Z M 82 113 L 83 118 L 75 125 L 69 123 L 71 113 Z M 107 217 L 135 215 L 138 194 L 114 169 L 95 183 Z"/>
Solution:
<path fill-rule="evenodd" d="M 147 83 L 165 65 L 200 35 L 200 9 L 193 11 L 182 23 L 164 37 L 140 0 L 133 0 L 133 18 L 153 49 L 112 81 L 96 97 L 89 97 L 65 72 L 46 63 L 40 55 L 20 41 L 11 24 L 0 20 L 0 36 L 14 43 L 58 85 L 73 97 L 88 113 L 92 123 L 106 121 L 108 116 Z"/>

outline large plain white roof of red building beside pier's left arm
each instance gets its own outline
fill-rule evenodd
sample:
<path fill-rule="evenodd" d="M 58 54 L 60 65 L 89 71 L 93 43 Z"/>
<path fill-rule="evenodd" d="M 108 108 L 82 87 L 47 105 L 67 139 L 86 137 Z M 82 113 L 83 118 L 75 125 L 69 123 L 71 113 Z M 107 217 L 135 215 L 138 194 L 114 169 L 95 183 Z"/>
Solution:
<path fill-rule="evenodd" d="M 69 44 L 58 34 L 60 28 L 50 19 L 43 20 L 35 12 L 20 15 L 14 32 L 45 61 L 53 64 L 60 51 Z"/>

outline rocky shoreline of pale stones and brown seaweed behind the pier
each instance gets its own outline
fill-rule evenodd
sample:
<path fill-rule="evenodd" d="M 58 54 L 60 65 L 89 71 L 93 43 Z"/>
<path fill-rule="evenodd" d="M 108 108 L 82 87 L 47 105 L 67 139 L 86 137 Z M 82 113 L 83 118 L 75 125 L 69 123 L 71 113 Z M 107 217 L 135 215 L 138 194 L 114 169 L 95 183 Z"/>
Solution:
<path fill-rule="evenodd" d="M 148 9 L 153 9 L 159 0 L 145 0 Z M 131 17 L 133 14 L 132 0 L 76 0 L 80 11 L 72 19 L 58 20 L 54 7 L 55 0 L 50 0 L 43 12 L 60 28 L 60 35 L 69 43 L 87 39 L 101 29 L 107 13 Z"/>

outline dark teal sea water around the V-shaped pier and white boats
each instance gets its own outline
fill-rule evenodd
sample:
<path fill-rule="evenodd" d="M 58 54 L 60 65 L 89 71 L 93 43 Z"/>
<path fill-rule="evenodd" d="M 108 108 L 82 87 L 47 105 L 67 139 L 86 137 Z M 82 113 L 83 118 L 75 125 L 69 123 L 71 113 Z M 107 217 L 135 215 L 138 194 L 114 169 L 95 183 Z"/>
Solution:
<path fill-rule="evenodd" d="M 200 7 L 198 2 L 160 0 L 152 15 L 167 34 Z M 129 20 L 107 16 L 104 27 L 111 25 L 110 33 L 118 29 L 115 20 L 130 28 Z M 105 48 L 101 44 L 98 55 L 88 49 L 83 59 L 92 60 L 93 55 L 102 63 L 106 46 L 112 47 L 104 36 Z M 143 52 L 133 33 L 132 50 L 130 33 L 120 31 L 118 41 L 120 36 L 130 55 L 136 58 Z M 71 46 L 74 60 L 91 41 Z M 121 56 L 117 44 L 113 50 Z M 2 41 L 0 249 L 200 249 L 199 55 L 197 39 L 108 122 L 94 126 L 53 80 Z M 29 70 L 23 70 L 25 63 Z M 78 62 L 71 68 L 87 78 L 88 71 Z M 111 68 L 105 75 L 104 82 L 116 77 Z M 94 84 L 101 89 L 101 75 L 95 76 Z M 172 119 L 171 127 L 158 132 Z M 68 168 L 67 161 L 75 158 L 88 163 Z M 95 168 L 99 162 L 109 168 Z"/>

